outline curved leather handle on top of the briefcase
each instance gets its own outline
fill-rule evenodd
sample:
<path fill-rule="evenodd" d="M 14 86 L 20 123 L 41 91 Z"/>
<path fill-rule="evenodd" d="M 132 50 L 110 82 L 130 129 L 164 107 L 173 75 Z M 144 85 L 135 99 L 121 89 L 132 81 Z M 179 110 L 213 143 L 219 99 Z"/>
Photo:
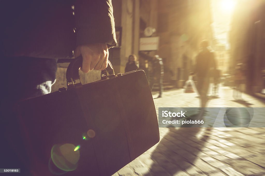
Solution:
<path fill-rule="evenodd" d="M 66 71 L 66 83 L 67 87 L 77 87 L 82 85 L 81 78 L 79 76 L 79 69 L 82 67 L 83 58 L 80 55 L 76 59 L 73 59 L 67 67 Z M 107 79 L 115 77 L 115 73 L 111 62 L 108 60 L 108 66 L 105 70 L 101 71 L 101 79 Z"/>

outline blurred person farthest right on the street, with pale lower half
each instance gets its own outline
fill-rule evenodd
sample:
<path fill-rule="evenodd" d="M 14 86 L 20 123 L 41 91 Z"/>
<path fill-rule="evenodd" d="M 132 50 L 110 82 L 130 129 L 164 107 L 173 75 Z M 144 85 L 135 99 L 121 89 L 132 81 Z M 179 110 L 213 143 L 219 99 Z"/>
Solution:
<path fill-rule="evenodd" d="M 233 98 L 236 100 L 242 99 L 241 84 L 243 84 L 244 79 L 245 76 L 244 76 L 243 64 L 238 63 L 235 69 L 235 77 L 234 77 L 235 89 L 233 90 Z"/>

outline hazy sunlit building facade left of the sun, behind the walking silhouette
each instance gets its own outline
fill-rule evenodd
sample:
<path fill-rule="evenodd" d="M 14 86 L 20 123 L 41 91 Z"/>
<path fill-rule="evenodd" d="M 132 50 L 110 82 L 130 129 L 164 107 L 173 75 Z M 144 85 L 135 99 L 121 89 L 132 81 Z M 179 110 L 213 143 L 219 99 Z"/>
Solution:
<path fill-rule="evenodd" d="M 182 88 L 193 71 L 201 40 L 212 43 L 210 1 L 158 1 L 160 47 L 167 78 Z"/>

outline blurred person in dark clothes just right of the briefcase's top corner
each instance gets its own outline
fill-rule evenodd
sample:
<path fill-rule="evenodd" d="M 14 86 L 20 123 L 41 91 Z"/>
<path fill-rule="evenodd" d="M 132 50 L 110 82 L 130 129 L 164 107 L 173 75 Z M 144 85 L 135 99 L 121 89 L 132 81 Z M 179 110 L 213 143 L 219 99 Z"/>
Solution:
<path fill-rule="evenodd" d="M 159 95 L 157 98 L 162 97 L 163 93 L 163 76 L 164 76 L 164 66 L 162 58 L 159 55 L 155 55 L 152 58 L 152 76 L 151 76 L 151 84 L 150 89 L 152 91 L 154 84 L 158 84 L 159 87 Z"/>

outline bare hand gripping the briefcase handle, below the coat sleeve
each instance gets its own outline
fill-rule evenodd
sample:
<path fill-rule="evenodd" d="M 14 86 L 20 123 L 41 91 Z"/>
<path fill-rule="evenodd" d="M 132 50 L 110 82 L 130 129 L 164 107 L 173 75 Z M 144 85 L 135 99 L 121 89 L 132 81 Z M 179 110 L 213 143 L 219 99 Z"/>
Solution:
<path fill-rule="evenodd" d="M 107 44 L 95 43 L 80 45 L 74 50 L 74 57 L 82 55 L 81 70 L 88 73 L 91 70 L 104 70 L 108 66 L 109 50 Z"/>

